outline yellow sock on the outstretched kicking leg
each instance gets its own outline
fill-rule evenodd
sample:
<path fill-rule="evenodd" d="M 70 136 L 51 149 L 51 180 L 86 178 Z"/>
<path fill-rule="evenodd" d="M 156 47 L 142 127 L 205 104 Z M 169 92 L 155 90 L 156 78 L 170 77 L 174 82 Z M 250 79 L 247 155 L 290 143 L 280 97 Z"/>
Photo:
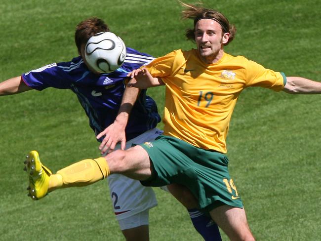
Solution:
<path fill-rule="evenodd" d="M 57 188 L 87 186 L 104 179 L 109 174 L 110 170 L 105 158 L 85 159 L 52 174 L 48 191 Z"/>

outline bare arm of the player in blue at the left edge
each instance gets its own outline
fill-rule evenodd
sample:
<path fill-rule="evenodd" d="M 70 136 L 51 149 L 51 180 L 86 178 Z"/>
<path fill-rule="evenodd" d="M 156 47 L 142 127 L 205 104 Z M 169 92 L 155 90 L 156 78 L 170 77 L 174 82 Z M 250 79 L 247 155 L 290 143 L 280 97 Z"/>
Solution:
<path fill-rule="evenodd" d="M 18 94 L 31 89 L 33 88 L 29 87 L 21 80 L 21 76 L 0 83 L 0 95 Z"/>

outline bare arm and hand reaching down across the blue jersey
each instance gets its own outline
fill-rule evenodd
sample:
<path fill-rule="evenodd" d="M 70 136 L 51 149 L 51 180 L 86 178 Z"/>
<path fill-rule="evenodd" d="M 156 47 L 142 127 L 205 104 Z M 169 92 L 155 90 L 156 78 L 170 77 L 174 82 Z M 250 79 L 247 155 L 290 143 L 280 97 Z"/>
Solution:
<path fill-rule="evenodd" d="M 125 127 L 127 125 L 131 109 L 137 100 L 139 91 L 140 90 L 138 88 L 125 89 L 122 96 L 118 116 L 116 117 L 114 123 L 97 135 L 97 139 L 105 135 L 103 141 L 99 146 L 101 154 L 104 154 L 107 151 L 113 151 L 118 142 L 120 142 L 121 149 L 125 149 Z"/>

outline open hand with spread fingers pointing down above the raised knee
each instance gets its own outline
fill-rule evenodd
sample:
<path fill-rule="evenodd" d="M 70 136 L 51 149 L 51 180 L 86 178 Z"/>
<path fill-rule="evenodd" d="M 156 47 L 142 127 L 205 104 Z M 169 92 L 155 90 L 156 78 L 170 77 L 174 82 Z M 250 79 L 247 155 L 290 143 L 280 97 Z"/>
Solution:
<path fill-rule="evenodd" d="M 108 126 L 105 130 L 100 132 L 97 135 L 97 139 L 104 136 L 103 141 L 101 142 L 99 146 L 99 150 L 101 151 L 102 155 L 105 155 L 106 153 L 110 153 L 115 150 L 116 145 L 120 142 L 120 149 L 125 149 L 126 144 L 126 135 L 125 135 L 125 129 L 123 125 L 119 124 L 118 121 L 114 121 L 113 124 Z"/>

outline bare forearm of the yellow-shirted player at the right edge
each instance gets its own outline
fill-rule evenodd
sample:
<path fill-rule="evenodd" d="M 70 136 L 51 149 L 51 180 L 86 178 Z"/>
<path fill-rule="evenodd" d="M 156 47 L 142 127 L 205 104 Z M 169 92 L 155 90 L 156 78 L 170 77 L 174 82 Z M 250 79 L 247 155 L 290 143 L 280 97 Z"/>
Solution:
<path fill-rule="evenodd" d="M 289 94 L 321 94 L 321 82 L 301 77 L 286 77 L 283 91 Z"/>

